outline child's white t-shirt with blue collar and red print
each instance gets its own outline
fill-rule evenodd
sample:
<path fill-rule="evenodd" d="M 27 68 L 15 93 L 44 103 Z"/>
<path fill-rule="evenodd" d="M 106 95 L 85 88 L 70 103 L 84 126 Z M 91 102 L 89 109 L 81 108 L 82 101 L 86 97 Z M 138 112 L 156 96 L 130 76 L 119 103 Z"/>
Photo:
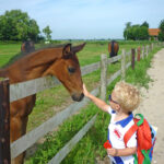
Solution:
<path fill-rule="evenodd" d="M 125 149 L 124 136 L 130 129 L 133 122 L 133 115 L 130 114 L 127 118 L 114 121 L 116 113 L 109 107 L 108 113 L 112 115 L 110 122 L 108 126 L 108 140 L 112 143 L 113 148 L 116 149 Z M 137 147 L 137 137 L 136 132 L 127 142 L 128 148 Z M 133 164 L 134 157 L 132 155 L 129 156 L 110 156 L 110 160 L 116 164 Z"/>

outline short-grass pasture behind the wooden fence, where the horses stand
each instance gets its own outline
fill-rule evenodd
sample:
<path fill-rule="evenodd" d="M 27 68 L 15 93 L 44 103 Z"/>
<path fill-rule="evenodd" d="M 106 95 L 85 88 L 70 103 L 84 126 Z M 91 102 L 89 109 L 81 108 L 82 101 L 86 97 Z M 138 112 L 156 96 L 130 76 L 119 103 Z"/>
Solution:
<path fill-rule="evenodd" d="M 73 43 L 77 45 L 80 43 Z M 119 54 L 121 49 L 130 50 L 130 48 L 136 48 L 141 44 L 147 43 L 136 43 L 136 42 L 121 42 L 119 44 Z M 107 42 L 86 42 L 86 45 L 82 51 L 78 54 L 80 65 L 85 66 L 93 62 L 97 62 L 101 59 L 101 54 L 108 54 Z M 36 45 L 37 47 L 39 45 Z M 12 57 L 19 54 L 21 50 L 21 44 L 2 44 L 0 45 L 0 66 L 5 65 Z M 120 63 L 110 67 L 108 69 L 108 75 L 113 74 L 120 68 Z M 99 81 L 99 71 L 95 71 L 92 74 L 83 77 L 83 81 L 86 83 L 89 90 L 95 87 Z M 58 96 L 60 95 L 60 96 Z M 30 116 L 30 121 L 27 130 L 32 130 L 49 117 L 55 115 L 57 112 L 61 110 L 68 104 L 72 103 L 68 92 L 63 86 L 58 86 L 54 89 L 46 90 L 37 94 L 36 106 Z M 54 107 L 55 106 L 55 107 Z"/>

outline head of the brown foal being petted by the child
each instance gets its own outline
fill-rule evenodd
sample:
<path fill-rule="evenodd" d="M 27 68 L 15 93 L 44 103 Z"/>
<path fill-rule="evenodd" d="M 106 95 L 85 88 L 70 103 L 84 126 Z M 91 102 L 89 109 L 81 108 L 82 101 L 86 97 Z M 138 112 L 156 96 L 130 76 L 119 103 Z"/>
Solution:
<path fill-rule="evenodd" d="M 46 70 L 44 75 L 55 75 L 69 91 L 73 101 L 80 102 L 83 98 L 82 78 L 77 52 L 80 51 L 85 44 L 72 47 L 67 44 L 54 63 Z"/>

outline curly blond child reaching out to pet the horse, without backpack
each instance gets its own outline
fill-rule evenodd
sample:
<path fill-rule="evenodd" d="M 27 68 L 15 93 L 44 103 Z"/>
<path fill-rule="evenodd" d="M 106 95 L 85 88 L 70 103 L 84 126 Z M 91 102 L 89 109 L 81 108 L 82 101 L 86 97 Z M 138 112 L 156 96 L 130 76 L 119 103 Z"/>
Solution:
<path fill-rule="evenodd" d="M 131 84 L 118 82 L 109 95 L 109 105 L 87 92 L 85 84 L 83 84 L 83 93 L 97 107 L 112 115 L 108 126 L 108 140 L 112 149 L 107 149 L 107 154 L 113 164 L 133 164 L 134 157 L 132 154 L 137 151 L 136 133 L 128 141 L 127 148 L 125 147 L 124 136 L 134 124 L 132 110 L 139 105 L 139 91 Z"/>

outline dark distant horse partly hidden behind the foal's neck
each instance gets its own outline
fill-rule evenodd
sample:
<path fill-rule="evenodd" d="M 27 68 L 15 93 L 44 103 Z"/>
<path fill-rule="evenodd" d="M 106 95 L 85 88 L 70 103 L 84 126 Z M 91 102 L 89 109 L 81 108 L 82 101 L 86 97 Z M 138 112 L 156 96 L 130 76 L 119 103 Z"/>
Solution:
<path fill-rule="evenodd" d="M 34 50 L 35 50 L 34 42 L 32 42 L 32 40 L 23 42 L 23 44 L 21 46 L 21 52 L 23 55 L 30 54 Z"/>

